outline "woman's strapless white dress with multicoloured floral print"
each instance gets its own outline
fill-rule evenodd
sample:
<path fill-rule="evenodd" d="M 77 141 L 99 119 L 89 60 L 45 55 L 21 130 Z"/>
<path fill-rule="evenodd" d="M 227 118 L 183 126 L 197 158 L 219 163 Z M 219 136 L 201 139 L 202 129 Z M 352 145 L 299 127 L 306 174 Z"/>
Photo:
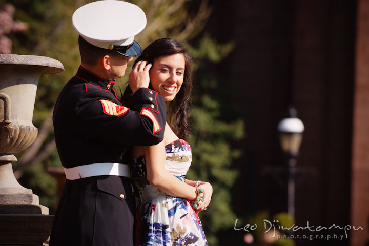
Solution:
<path fill-rule="evenodd" d="M 191 147 L 185 140 L 166 145 L 165 168 L 183 182 L 191 161 Z M 135 220 L 135 245 L 208 245 L 190 202 L 151 186 L 146 177 L 145 157 L 131 164 L 131 179 L 141 199 Z"/>

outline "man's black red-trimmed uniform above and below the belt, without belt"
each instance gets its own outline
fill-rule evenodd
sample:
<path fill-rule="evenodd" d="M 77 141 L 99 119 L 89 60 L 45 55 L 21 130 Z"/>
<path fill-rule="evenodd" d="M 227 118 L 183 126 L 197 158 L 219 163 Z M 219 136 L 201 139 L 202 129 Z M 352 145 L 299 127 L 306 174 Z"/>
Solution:
<path fill-rule="evenodd" d="M 83 67 L 61 91 L 53 123 L 65 168 L 129 163 L 133 145 L 162 141 L 165 100 L 147 88 L 133 95 L 136 111 L 122 106 L 114 81 Z M 128 177 L 67 180 L 57 208 L 50 245 L 133 245 L 135 200 Z"/>

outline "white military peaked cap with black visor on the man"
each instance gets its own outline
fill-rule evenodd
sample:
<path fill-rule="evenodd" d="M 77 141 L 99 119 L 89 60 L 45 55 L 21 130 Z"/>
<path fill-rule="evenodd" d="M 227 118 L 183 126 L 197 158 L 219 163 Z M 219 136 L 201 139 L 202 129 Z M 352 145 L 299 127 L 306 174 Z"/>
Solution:
<path fill-rule="evenodd" d="M 145 28 L 146 15 L 134 4 L 118 0 L 92 2 L 74 12 L 72 23 L 79 35 L 94 46 L 129 57 L 141 53 L 134 36 Z"/>

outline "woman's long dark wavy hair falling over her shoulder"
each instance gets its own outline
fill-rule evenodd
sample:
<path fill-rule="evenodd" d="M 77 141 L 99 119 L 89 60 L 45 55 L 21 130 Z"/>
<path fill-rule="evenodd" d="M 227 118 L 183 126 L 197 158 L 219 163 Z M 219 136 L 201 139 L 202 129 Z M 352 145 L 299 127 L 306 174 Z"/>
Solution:
<path fill-rule="evenodd" d="M 174 133 L 181 139 L 186 139 L 190 133 L 190 105 L 189 99 L 192 95 L 193 69 L 192 58 L 187 53 L 187 49 L 174 38 L 160 38 L 144 49 L 141 55 L 135 60 L 134 65 L 140 60 L 146 60 L 154 64 L 157 58 L 181 53 L 185 56 L 185 74 L 183 84 L 173 101 L 168 103 L 167 121 Z M 150 89 L 152 85 L 149 86 Z M 126 87 L 121 101 L 126 107 L 134 108 L 132 90 Z"/>

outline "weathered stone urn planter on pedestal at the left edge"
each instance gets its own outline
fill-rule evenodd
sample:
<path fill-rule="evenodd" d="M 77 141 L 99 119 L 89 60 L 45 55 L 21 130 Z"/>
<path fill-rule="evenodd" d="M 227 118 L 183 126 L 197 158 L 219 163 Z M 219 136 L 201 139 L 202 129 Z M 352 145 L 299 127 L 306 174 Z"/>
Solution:
<path fill-rule="evenodd" d="M 19 185 L 11 162 L 37 136 L 32 118 L 39 77 L 62 71 L 49 57 L 0 54 L 0 245 L 43 245 L 50 235 L 54 216 Z"/>

